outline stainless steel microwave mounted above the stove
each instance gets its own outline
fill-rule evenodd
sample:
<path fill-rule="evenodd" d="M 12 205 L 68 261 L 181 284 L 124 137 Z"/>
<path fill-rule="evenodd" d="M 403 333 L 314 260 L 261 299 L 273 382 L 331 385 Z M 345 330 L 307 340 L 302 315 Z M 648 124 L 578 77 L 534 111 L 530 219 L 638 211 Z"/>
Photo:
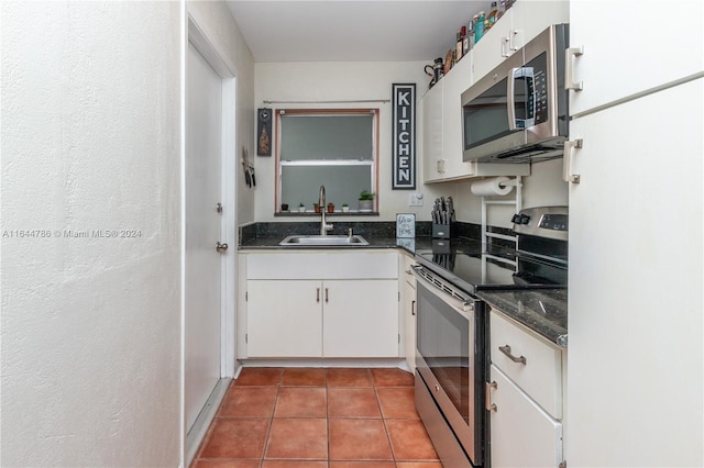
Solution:
<path fill-rule="evenodd" d="M 562 157 L 569 116 L 568 45 L 568 24 L 554 24 L 462 93 L 463 160 Z"/>

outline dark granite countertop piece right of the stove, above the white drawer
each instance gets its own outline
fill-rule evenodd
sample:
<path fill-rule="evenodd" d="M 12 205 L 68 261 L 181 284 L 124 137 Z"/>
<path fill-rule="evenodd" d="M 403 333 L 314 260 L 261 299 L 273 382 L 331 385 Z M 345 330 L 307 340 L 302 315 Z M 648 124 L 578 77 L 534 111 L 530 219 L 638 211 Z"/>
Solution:
<path fill-rule="evenodd" d="M 526 325 L 560 347 L 568 347 L 568 290 L 484 290 L 477 296 L 497 312 Z"/>

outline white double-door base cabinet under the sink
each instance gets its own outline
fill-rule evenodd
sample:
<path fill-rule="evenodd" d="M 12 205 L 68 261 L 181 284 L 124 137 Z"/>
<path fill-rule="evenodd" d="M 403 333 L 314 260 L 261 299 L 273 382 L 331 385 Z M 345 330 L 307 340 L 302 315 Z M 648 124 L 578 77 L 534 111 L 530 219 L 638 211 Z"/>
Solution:
<path fill-rule="evenodd" d="M 396 252 L 292 252 L 246 259 L 252 358 L 398 358 Z"/>

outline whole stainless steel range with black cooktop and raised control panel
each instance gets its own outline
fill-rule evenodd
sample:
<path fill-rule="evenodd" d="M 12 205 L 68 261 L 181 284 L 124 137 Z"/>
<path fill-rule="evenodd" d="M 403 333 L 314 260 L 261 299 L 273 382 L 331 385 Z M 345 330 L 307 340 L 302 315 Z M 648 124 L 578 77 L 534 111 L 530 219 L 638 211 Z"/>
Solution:
<path fill-rule="evenodd" d="M 491 465 L 488 308 L 479 296 L 566 287 L 566 207 L 525 209 L 513 222 L 515 249 L 465 243 L 416 254 L 416 409 L 447 467 Z"/>

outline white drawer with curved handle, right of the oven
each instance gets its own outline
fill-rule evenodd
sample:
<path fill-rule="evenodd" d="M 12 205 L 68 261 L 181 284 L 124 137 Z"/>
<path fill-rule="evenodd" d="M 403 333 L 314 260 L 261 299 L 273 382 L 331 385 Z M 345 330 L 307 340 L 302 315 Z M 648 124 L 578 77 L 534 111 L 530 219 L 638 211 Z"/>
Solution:
<path fill-rule="evenodd" d="M 552 417 L 561 420 L 562 352 L 496 312 L 491 314 L 491 347 L 492 364 Z M 522 359 L 514 361 L 508 354 Z"/>

